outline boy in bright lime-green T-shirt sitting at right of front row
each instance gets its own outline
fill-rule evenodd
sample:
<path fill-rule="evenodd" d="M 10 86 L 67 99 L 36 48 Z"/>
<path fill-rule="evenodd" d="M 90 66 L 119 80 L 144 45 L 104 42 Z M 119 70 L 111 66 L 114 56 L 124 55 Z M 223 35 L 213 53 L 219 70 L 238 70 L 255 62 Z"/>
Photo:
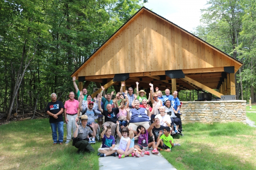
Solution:
<path fill-rule="evenodd" d="M 171 148 L 174 146 L 180 146 L 180 144 L 174 144 L 173 143 L 173 137 L 169 134 L 171 129 L 169 127 L 164 127 L 163 132 L 159 131 L 159 136 L 157 137 L 157 145 L 161 146 L 162 149 L 164 149 L 166 152 L 170 152 Z M 162 135 L 163 133 L 163 135 Z M 161 140 L 158 140 L 161 139 Z M 161 150 L 161 149 L 160 149 Z"/>

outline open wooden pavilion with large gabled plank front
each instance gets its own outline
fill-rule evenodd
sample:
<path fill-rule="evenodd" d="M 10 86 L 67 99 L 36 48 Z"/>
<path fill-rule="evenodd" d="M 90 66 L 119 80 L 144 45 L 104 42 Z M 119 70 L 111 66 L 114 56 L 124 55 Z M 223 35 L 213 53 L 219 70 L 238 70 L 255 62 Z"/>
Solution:
<path fill-rule="evenodd" d="M 79 90 L 93 81 L 105 89 L 113 85 L 118 92 L 121 82 L 134 89 L 138 81 L 139 89 L 146 91 L 153 83 L 160 90 L 203 89 L 221 97 L 236 94 L 234 74 L 242 64 L 142 7 L 71 77 L 79 80 Z"/>

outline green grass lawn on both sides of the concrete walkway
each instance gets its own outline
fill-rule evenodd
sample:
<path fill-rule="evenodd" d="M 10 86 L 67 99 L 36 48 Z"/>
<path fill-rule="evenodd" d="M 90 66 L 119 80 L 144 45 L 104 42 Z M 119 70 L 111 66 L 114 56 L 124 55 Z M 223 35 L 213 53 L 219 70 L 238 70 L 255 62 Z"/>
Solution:
<path fill-rule="evenodd" d="M 53 146 L 51 133 L 48 119 L 1 125 L 1 169 L 99 169 L 96 153 L 76 154 L 71 142 Z M 178 170 L 256 169 L 256 128 L 241 123 L 194 123 L 183 125 L 183 133 L 174 139 L 181 146 L 170 153 L 161 151 Z M 64 127 L 64 142 L 65 138 Z M 95 151 L 99 146 L 93 144 Z"/>

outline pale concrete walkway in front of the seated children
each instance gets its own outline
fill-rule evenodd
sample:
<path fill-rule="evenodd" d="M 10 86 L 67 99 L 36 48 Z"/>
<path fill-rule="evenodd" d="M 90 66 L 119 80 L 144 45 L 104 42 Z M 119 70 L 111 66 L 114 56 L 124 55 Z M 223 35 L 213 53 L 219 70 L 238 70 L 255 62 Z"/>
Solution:
<path fill-rule="evenodd" d="M 135 140 L 137 144 L 138 140 Z M 119 146 L 119 140 L 117 139 L 117 145 Z M 162 155 L 151 154 L 153 149 L 150 148 L 150 155 L 144 155 L 144 157 L 125 157 L 118 158 L 118 156 L 99 157 L 99 169 L 100 170 L 123 170 L 123 169 L 136 169 L 136 170 L 177 170 L 174 168 Z"/>

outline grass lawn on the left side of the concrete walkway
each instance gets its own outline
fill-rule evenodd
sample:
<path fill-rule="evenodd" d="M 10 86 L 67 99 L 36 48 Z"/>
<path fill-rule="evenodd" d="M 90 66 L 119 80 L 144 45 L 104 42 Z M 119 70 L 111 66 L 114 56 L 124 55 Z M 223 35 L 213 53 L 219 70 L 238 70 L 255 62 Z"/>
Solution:
<path fill-rule="evenodd" d="M 97 150 L 76 154 L 72 142 L 53 146 L 49 119 L 11 122 L 0 126 L 0 161 L 2 169 L 99 169 Z M 64 125 L 64 140 L 66 129 Z"/>

